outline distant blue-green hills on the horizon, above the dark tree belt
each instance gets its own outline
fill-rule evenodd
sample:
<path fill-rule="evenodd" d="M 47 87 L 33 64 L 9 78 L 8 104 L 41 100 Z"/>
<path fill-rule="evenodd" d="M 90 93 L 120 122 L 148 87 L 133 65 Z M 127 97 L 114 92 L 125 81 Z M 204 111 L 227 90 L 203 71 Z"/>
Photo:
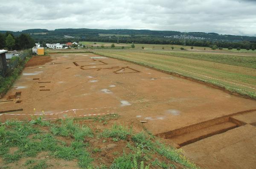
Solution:
<path fill-rule="evenodd" d="M 6 31 L 0 31 L 5 33 Z M 47 29 L 28 29 L 18 32 L 12 32 L 14 35 L 21 33 L 31 34 L 35 40 L 47 39 L 48 37 L 64 38 L 82 38 L 86 39 L 92 37 L 158 37 L 161 39 L 193 39 L 193 40 L 206 40 L 206 41 L 256 41 L 256 37 L 248 36 L 236 36 L 236 35 L 221 35 L 216 33 L 204 33 L 204 32 L 179 32 L 179 31 L 151 31 L 151 30 L 134 30 L 134 29 L 87 29 L 87 28 L 67 28 L 67 29 L 55 29 L 49 31 Z"/>

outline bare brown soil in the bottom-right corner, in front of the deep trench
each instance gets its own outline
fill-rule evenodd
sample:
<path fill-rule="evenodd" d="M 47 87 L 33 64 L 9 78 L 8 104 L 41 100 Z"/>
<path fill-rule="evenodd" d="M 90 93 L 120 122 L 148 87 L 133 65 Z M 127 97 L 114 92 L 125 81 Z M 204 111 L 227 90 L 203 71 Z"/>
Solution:
<path fill-rule="evenodd" d="M 246 124 L 182 147 L 184 155 L 206 169 L 254 169 L 256 127 Z"/>

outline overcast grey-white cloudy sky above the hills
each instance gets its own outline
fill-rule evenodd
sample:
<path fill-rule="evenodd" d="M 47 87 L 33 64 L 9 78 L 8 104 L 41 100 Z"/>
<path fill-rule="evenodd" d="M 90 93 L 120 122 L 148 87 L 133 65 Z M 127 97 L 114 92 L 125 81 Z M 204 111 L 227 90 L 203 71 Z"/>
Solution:
<path fill-rule="evenodd" d="M 0 0 L 0 30 L 98 28 L 256 36 L 256 0 Z"/>

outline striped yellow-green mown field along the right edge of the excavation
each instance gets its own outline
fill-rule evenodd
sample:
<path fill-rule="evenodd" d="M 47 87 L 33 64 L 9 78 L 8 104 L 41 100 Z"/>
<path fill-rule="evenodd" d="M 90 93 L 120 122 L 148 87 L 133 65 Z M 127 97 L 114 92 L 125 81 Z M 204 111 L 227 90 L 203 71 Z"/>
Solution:
<path fill-rule="evenodd" d="M 222 87 L 227 91 L 256 99 L 255 58 L 244 56 L 223 56 L 186 53 L 148 53 L 139 51 L 94 51 L 94 54 L 134 62 L 169 73 L 189 77 Z M 177 56 L 171 56 L 177 54 Z M 181 57 L 182 56 L 182 57 Z M 186 58 L 190 57 L 190 58 Z M 248 57 L 248 58 L 247 58 Z M 193 59 L 191 59 L 193 58 Z M 221 59 L 220 59 L 221 58 Z M 230 64 L 224 64 L 230 59 Z M 209 62 L 209 60 L 214 62 Z M 239 61 L 241 59 L 241 62 Z M 206 61 L 208 60 L 208 61 Z M 220 61 L 222 60 L 222 61 Z M 222 62 L 222 63 L 218 63 Z M 240 65 L 240 66 L 234 66 Z"/>

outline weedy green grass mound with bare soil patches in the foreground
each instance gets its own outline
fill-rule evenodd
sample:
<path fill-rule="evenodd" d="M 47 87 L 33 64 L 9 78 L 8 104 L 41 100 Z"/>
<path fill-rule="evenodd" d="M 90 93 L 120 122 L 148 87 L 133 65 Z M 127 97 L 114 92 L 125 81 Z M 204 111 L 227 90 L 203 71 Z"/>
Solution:
<path fill-rule="evenodd" d="M 109 115 L 105 119 L 113 120 Z M 21 159 L 28 158 L 22 164 L 28 169 L 47 169 L 49 166 L 58 168 L 56 166 L 59 165 L 58 162 L 52 163 L 50 159 L 76 161 L 77 166 L 84 169 L 167 169 L 175 168 L 177 164 L 184 168 L 198 168 L 177 149 L 158 142 L 157 138 L 147 132 L 134 133 L 130 127 L 114 123 L 96 133 L 98 129 L 94 126 L 94 122 L 91 123 L 94 126 L 92 128 L 79 125 L 80 121 L 84 121 L 84 118 L 80 120 L 65 118 L 57 122 L 45 122 L 41 118 L 22 123 L 6 121 L 0 126 L 0 157 L 3 158 L 3 164 L 0 164 L 0 167 L 8 168 L 10 163 L 18 166 Z M 41 130 L 42 128 L 44 130 Z M 60 140 L 57 135 L 70 140 L 70 143 Z M 117 142 L 112 138 L 116 138 Z M 122 143 L 125 141 L 127 146 L 115 149 L 110 153 L 115 155 L 112 162 L 104 163 L 109 161 L 109 157 L 102 156 L 102 149 L 99 147 L 90 148 L 91 139 L 96 139 L 102 144 L 119 144 L 119 141 Z M 105 140 L 104 143 L 103 140 Z M 11 153 L 9 150 L 14 146 L 18 149 Z M 48 158 L 38 159 L 40 152 L 47 152 Z M 102 158 L 104 160 L 101 160 Z"/>

